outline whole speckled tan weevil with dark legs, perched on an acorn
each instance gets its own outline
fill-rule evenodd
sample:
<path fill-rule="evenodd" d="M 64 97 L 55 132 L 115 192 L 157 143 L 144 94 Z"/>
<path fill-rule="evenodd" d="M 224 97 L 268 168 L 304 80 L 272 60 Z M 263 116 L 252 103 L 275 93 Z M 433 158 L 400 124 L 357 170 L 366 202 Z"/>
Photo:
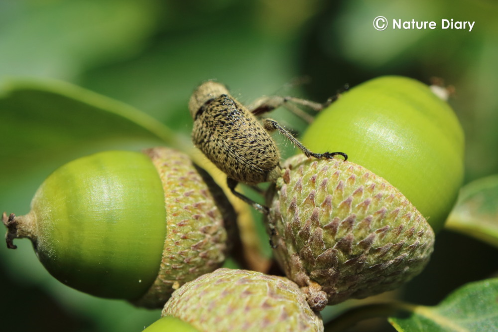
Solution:
<path fill-rule="evenodd" d="M 245 107 L 232 97 L 221 83 L 207 81 L 192 94 L 189 111 L 194 120 L 192 141 L 218 168 L 227 174 L 227 184 L 234 195 L 266 213 L 267 207 L 239 193 L 239 182 L 256 185 L 276 181 L 281 175 L 280 153 L 269 133 L 279 131 L 307 157 L 331 159 L 336 155 L 348 159 L 343 152 L 317 154 L 304 147 L 294 136 L 272 119 L 258 120 L 257 115 L 289 102 L 320 110 L 322 104 L 293 97 L 265 97 Z M 297 107 L 289 107 L 299 115 Z"/>

